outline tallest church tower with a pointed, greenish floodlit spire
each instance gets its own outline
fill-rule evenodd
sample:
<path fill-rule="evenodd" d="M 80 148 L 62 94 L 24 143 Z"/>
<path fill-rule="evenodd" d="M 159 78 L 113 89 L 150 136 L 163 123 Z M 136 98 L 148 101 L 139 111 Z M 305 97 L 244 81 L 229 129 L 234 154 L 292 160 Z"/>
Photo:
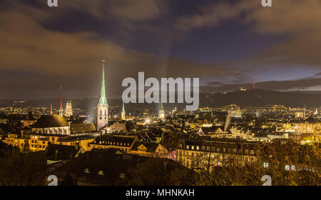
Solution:
<path fill-rule="evenodd" d="M 103 126 L 108 125 L 108 104 L 106 98 L 105 89 L 105 63 L 103 60 L 103 79 L 101 81 L 101 99 L 99 99 L 97 107 L 97 129 L 103 128 Z"/>

